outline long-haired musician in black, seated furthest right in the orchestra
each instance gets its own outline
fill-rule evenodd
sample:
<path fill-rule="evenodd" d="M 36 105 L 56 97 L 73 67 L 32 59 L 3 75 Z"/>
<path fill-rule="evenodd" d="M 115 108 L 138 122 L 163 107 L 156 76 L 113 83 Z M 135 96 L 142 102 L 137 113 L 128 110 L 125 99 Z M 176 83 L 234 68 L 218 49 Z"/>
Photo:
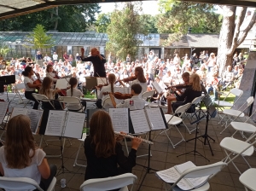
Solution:
<path fill-rule="evenodd" d="M 179 97 L 180 101 L 172 103 L 172 111 L 175 112 L 177 107 L 183 106 L 192 102 L 196 97 L 201 96 L 201 81 L 200 77 L 194 73 L 189 77 L 189 87 L 186 88 L 184 93 Z"/>

